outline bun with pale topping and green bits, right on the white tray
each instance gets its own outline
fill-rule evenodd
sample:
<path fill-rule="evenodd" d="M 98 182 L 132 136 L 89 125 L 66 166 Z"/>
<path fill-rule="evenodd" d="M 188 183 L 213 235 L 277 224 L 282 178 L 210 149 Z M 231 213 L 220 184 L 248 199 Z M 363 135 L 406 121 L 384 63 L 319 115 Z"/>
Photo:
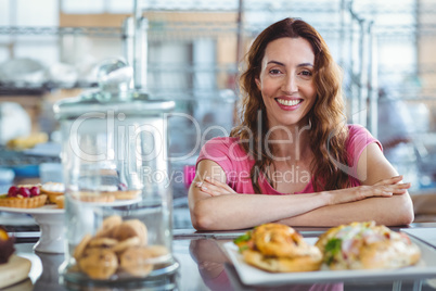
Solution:
<path fill-rule="evenodd" d="M 334 227 L 316 243 L 330 269 L 393 269 L 414 265 L 421 257 L 418 245 L 403 232 L 374 222 Z"/>

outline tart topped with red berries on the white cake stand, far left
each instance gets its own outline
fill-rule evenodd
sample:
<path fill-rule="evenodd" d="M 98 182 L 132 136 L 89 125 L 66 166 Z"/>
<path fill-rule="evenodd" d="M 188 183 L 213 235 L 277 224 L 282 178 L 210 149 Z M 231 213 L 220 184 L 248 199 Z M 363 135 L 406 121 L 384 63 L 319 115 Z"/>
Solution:
<path fill-rule="evenodd" d="M 39 186 L 11 186 L 7 194 L 0 195 L 0 206 L 36 208 L 46 204 L 47 195 L 40 193 Z"/>

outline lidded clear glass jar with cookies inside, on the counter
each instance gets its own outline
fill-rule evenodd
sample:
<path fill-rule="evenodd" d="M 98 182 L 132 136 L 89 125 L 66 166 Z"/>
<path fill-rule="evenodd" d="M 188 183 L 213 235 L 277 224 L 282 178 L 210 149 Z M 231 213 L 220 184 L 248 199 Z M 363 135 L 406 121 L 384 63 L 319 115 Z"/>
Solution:
<path fill-rule="evenodd" d="M 54 105 L 65 184 L 61 276 L 75 283 L 148 280 L 178 268 L 167 175 L 175 103 L 129 90 L 128 67 L 103 69 L 100 90 Z"/>

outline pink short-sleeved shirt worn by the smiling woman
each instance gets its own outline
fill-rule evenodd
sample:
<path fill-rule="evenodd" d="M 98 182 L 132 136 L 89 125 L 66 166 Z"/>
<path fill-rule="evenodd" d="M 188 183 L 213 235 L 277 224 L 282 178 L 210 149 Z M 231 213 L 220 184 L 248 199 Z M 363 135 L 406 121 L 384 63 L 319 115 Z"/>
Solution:
<path fill-rule="evenodd" d="M 346 150 L 349 153 L 349 167 L 346 165 L 338 165 L 343 170 L 346 170 L 350 177 L 351 187 L 360 186 L 360 181 L 356 179 L 357 162 L 364 148 L 372 142 L 376 142 L 383 150 L 382 144 L 376 140 L 364 127 L 360 125 L 348 125 L 348 139 L 346 141 Z M 197 164 L 202 160 L 210 160 L 216 162 L 225 170 L 227 175 L 227 184 L 238 193 L 255 193 L 252 180 L 249 178 L 251 169 L 254 165 L 254 160 L 243 150 L 240 146 L 242 142 L 239 138 L 219 137 L 207 141 L 197 159 Z M 256 147 L 256 144 L 253 144 Z M 363 161 L 364 162 L 364 161 Z M 291 172 L 292 175 L 292 172 Z M 295 179 L 304 178 L 297 177 L 298 172 L 294 172 Z M 295 193 L 312 193 L 313 185 L 311 178 L 305 189 Z M 271 185 L 261 179 L 259 186 L 265 194 L 287 194 L 281 193 L 273 189 Z"/>

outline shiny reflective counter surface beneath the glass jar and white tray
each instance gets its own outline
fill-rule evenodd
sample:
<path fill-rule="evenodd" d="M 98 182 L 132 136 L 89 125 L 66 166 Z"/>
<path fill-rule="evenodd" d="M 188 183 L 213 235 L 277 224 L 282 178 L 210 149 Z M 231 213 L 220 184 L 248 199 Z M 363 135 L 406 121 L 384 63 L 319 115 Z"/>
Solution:
<path fill-rule="evenodd" d="M 325 229 L 297 228 L 305 237 L 317 237 Z M 14 233 L 21 233 L 17 228 Z M 395 229 L 398 230 L 398 229 Z M 426 241 L 436 252 L 436 224 L 412 224 L 406 229 Z M 246 286 L 229 261 L 223 244 L 244 231 L 198 232 L 193 229 L 174 230 L 174 255 L 180 264 L 177 273 L 163 276 L 145 283 L 123 287 L 78 287 L 61 284 L 57 268 L 63 254 L 38 253 L 33 250 L 39 232 L 22 232 L 15 244 L 16 254 L 31 261 L 29 278 L 8 291 L 24 290 L 436 290 L 436 273 L 431 278 L 407 280 L 347 280 L 345 282 L 318 282 L 316 284 L 287 284 L 281 287 Z"/>

